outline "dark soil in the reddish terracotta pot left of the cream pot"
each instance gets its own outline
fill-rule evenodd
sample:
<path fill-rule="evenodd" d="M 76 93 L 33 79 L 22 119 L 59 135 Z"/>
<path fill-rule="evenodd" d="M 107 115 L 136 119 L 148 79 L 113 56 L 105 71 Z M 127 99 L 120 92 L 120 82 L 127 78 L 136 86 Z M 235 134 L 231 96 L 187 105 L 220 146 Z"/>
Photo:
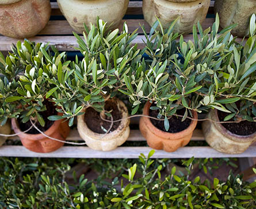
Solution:
<path fill-rule="evenodd" d="M 40 129 L 40 131 L 45 132 L 45 131 L 47 131 L 47 129 L 49 129 L 52 126 L 52 124 L 54 124 L 54 121 L 48 120 L 47 118 L 49 116 L 57 115 L 58 112 L 55 110 L 55 106 L 54 106 L 54 104 L 52 104 L 51 101 L 44 100 L 43 104 L 46 106 L 46 111 L 40 112 L 40 115 L 43 117 L 43 119 L 45 121 L 45 125 L 44 125 L 44 127 L 41 127 L 39 122 L 37 122 L 35 125 L 37 128 Z M 30 121 L 28 121 L 26 123 L 22 123 L 21 121 L 22 121 L 22 119 L 18 119 L 18 124 L 20 125 L 21 131 L 26 131 L 31 127 Z M 35 128 L 32 128 L 26 133 L 37 134 L 40 132 L 38 132 Z"/>

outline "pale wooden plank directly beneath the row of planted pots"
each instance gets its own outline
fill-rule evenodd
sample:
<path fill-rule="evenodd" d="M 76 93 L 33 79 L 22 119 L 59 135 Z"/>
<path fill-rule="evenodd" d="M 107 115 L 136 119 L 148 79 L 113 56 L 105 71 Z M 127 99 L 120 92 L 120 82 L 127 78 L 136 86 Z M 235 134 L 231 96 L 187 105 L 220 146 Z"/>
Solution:
<path fill-rule="evenodd" d="M 6 157 L 59 157 L 59 158 L 129 158 L 137 159 L 140 153 L 148 155 L 150 147 L 118 147 L 110 152 L 95 151 L 89 147 L 64 146 L 51 153 L 28 151 L 23 146 L 6 145 L 0 148 L 0 156 Z M 256 147 L 249 147 L 242 154 L 230 155 L 221 153 L 210 147 L 182 147 L 175 152 L 156 151 L 153 158 L 204 158 L 204 157 L 255 157 Z"/>

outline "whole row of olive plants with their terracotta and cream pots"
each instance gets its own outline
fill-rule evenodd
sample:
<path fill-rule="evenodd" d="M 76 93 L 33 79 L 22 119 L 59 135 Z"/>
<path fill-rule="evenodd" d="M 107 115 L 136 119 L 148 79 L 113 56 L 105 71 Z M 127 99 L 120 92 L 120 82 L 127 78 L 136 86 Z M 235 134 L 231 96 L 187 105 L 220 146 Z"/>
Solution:
<path fill-rule="evenodd" d="M 63 143 L 48 139 L 32 123 L 64 140 L 77 116 L 87 145 L 110 151 L 129 136 L 121 96 L 129 100 L 132 115 L 146 101 L 140 131 L 154 149 L 172 152 L 188 144 L 197 113 L 209 112 L 202 125 L 209 145 L 243 152 L 256 136 L 255 15 L 244 45 L 232 37 L 234 25 L 217 34 L 218 15 L 212 30 L 194 25 L 193 42 L 174 33 L 177 21 L 166 30 L 156 22 L 150 34 L 143 28 L 146 47 L 140 50 L 132 45 L 136 31 L 128 34 L 126 24 L 120 33 L 112 31 L 98 19 L 91 29 L 85 26 L 84 40 L 74 33 L 82 61 L 67 61 L 66 52 L 53 46 L 18 42 L 12 53 L 0 57 L 1 125 L 12 119 L 26 148 L 51 152 Z"/>

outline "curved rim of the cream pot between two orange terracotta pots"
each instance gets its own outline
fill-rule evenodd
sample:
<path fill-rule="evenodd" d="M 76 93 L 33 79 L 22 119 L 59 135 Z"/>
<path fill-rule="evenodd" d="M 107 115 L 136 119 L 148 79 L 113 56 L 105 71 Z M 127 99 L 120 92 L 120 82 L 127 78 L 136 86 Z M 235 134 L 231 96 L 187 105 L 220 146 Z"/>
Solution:
<path fill-rule="evenodd" d="M 119 104 L 118 108 L 122 114 L 121 119 L 124 119 L 124 120 L 121 120 L 119 127 L 123 127 L 123 128 L 120 129 L 118 127 L 116 130 L 114 130 L 113 132 L 110 132 L 106 135 L 105 135 L 105 133 L 96 133 L 94 131 L 91 131 L 91 129 L 85 123 L 85 115 L 79 115 L 78 120 L 80 120 L 82 122 L 82 126 L 84 127 L 84 130 L 86 130 L 88 137 L 91 137 L 92 139 L 99 140 L 99 141 L 110 141 L 110 140 L 113 140 L 113 138 L 118 137 L 121 132 L 123 132 L 127 127 L 129 127 L 130 120 L 125 119 L 125 118 L 129 117 L 129 115 L 128 115 L 127 107 L 125 106 L 124 102 L 119 100 L 119 98 L 117 98 L 117 97 L 110 98 L 109 100 L 116 100 L 117 103 Z M 83 108 L 83 110 L 81 112 L 85 112 L 85 111 L 86 111 L 86 108 Z M 104 137 L 102 137 L 102 136 L 104 136 Z"/>

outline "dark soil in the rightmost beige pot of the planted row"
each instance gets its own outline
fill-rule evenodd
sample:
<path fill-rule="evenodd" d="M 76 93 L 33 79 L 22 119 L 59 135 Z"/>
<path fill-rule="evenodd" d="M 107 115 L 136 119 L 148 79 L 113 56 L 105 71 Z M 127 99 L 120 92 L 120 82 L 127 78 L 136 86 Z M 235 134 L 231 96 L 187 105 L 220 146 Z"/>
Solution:
<path fill-rule="evenodd" d="M 230 113 L 217 111 L 217 114 L 218 114 L 219 120 L 224 121 L 224 118 L 228 116 Z M 231 119 L 228 121 L 234 121 L 234 119 Z M 236 135 L 240 135 L 240 136 L 247 136 L 256 132 L 256 123 L 250 122 L 247 120 L 243 120 L 240 123 L 223 123 L 221 125 L 223 125 L 231 133 L 235 133 Z"/>

